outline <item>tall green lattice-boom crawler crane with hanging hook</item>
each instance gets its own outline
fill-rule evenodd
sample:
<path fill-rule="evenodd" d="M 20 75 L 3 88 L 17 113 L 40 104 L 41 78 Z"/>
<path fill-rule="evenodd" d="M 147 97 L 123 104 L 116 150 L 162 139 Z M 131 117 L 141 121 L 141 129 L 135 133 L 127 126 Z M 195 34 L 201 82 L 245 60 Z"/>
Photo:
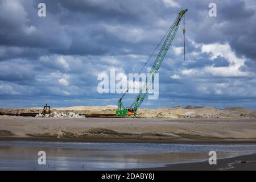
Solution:
<path fill-rule="evenodd" d="M 166 37 L 166 39 L 164 40 L 163 46 L 160 49 L 160 52 L 158 53 L 158 56 L 156 57 L 156 60 L 153 64 L 149 74 L 147 75 L 146 82 L 142 86 L 142 89 L 140 90 L 138 96 L 135 98 L 133 104 L 131 104 L 130 107 L 125 107 L 122 104 L 123 97 L 129 91 L 127 89 L 126 92 L 122 95 L 122 97 L 118 100 L 118 110 L 115 112 L 116 115 L 137 115 L 137 110 L 138 110 L 139 106 L 142 104 L 144 98 L 147 95 L 148 89 L 150 88 L 152 82 L 154 81 L 154 78 L 155 78 L 154 74 L 158 73 L 160 65 L 162 64 L 164 57 L 166 56 L 166 53 L 171 46 L 172 40 L 174 39 L 176 32 L 179 28 L 181 19 L 186 12 L 187 12 L 187 9 L 180 11 L 180 13 L 177 15 L 177 18 L 175 19 L 174 23 L 172 23 L 171 27 L 167 31 L 167 34 L 164 36 L 164 38 Z M 185 22 L 184 22 L 184 24 L 185 24 Z M 183 36 L 185 36 L 185 27 L 183 28 Z M 162 40 L 161 40 L 161 42 L 162 42 Z M 184 41 L 185 41 L 185 38 L 184 38 Z M 158 46 L 159 46 L 159 44 L 158 44 Z M 152 53 L 152 55 L 153 54 L 154 54 L 154 52 Z M 185 59 L 185 42 L 184 42 L 184 59 Z M 146 62 L 146 64 L 147 64 L 147 62 Z M 146 65 L 146 64 L 144 64 L 144 65 Z"/>

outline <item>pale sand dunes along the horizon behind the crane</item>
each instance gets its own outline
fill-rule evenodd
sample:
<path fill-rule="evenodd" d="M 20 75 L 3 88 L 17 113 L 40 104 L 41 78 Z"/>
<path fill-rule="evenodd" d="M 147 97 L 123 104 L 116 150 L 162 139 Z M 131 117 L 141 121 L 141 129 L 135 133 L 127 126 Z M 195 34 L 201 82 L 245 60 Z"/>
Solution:
<path fill-rule="evenodd" d="M 52 107 L 53 111 L 75 112 L 79 114 L 109 113 L 114 114 L 118 107 L 108 106 L 72 106 L 72 107 Z M 0 112 L 13 113 L 38 113 L 42 112 L 42 107 L 0 109 Z M 227 107 L 218 109 L 215 107 L 162 107 L 158 109 L 138 109 L 138 117 L 143 118 L 255 118 L 256 111 L 244 107 Z"/>

